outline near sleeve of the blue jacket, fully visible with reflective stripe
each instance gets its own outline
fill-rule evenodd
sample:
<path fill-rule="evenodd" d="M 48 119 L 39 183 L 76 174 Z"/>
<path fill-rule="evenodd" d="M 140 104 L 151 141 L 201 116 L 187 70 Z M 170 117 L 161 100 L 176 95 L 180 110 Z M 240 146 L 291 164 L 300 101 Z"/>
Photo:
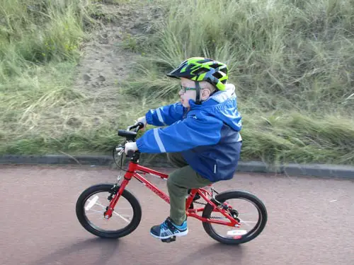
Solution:
<path fill-rule="evenodd" d="M 147 131 L 137 139 L 137 148 L 142 153 L 172 153 L 208 146 L 219 142 L 221 128 L 222 121 L 218 119 L 188 117 L 166 128 Z"/>

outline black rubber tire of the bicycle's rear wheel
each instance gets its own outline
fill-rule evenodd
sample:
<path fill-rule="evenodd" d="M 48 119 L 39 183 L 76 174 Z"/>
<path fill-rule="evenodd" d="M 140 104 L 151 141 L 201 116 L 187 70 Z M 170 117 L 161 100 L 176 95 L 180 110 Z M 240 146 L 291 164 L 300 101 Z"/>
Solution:
<path fill-rule="evenodd" d="M 214 228 L 212 228 L 211 223 L 202 222 L 202 226 L 205 232 L 207 232 L 207 234 L 210 235 L 210 237 L 212 237 L 214 240 L 217 240 L 222 244 L 239 245 L 239 244 L 249 242 L 254 238 L 256 238 L 259 234 L 261 234 L 261 232 L 265 228 L 265 224 L 267 223 L 268 213 L 263 202 L 260 199 L 258 199 L 256 196 L 254 196 L 249 192 L 244 192 L 239 190 L 221 192 L 215 196 L 215 199 L 217 199 L 217 201 L 221 203 L 227 201 L 228 199 L 246 199 L 247 201 L 251 201 L 251 203 L 253 203 L 253 205 L 255 205 L 257 208 L 258 222 L 256 223 L 255 227 L 252 230 L 247 232 L 246 235 L 243 235 L 240 239 L 231 239 L 231 238 L 222 237 L 218 235 L 217 232 L 215 232 Z M 202 217 L 210 218 L 210 216 L 212 215 L 212 210 L 213 207 L 210 204 L 207 204 L 202 212 Z"/>

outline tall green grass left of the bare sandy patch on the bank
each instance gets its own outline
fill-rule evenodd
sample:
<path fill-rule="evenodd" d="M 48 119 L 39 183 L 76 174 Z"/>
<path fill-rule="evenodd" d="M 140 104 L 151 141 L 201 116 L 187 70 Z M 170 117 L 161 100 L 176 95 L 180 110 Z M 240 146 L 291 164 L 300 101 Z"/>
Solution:
<path fill-rule="evenodd" d="M 0 0 L 0 153 L 57 153 L 87 149 L 88 142 L 93 148 L 104 145 L 96 135 L 107 132 L 103 127 L 108 125 L 101 122 L 102 127 L 89 131 L 100 119 L 85 112 L 92 101 L 72 88 L 79 47 L 97 22 L 92 17 L 98 4 Z"/>

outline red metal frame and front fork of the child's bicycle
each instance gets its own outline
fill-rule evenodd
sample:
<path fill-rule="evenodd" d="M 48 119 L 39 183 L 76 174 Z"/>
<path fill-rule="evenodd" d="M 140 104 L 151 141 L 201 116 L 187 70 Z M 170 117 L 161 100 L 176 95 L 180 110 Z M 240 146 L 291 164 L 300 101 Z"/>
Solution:
<path fill-rule="evenodd" d="M 117 204 L 118 199 L 122 195 L 122 192 L 124 191 L 125 187 L 127 187 L 127 184 L 130 182 L 130 180 L 133 177 L 135 177 L 139 182 L 142 182 L 143 184 L 145 184 L 145 186 L 147 188 L 152 190 L 152 192 L 154 192 L 157 196 L 159 196 L 161 199 L 166 201 L 166 203 L 170 204 L 169 196 L 166 193 L 162 192 L 160 189 L 158 189 L 154 184 L 149 182 L 147 179 L 142 177 L 142 175 L 139 175 L 137 173 L 137 171 L 141 171 L 142 174 L 144 174 L 144 175 L 146 175 L 146 174 L 156 175 L 156 176 L 159 176 L 161 179 L 167 179 L 169 177 L 169 175 L 166 175 L 166 174 L 156 171 L 156 170 L 152 170 L 148 167 L 144 167 L 144 166 L 139 165 L 138 163 L 135 163 L 131 160 L 128 165 L 128 170 L 124 175 L 124 179 L 122 180 L 122 183 L 120 184 L 120 188 L 118 189 L 117 194 L 115 194 L 115 196 L 113 196 L 113 199 L 110 201 L 108 209 L 105 213 L 105 216 L 108 216 L 108 218 L 110 218 L 112 216 L 115 204 Z M 198 215 L 198 213 L 202 212 L 204 208 L 190 209 L 189 207 L 193 203 L 193 199 L 197 193 L 200 194 L 200 196 L 203 199 L 205 199 L 205 201 L 214 208 L 213 211 L 217 211 L 219 213 L 222 213 L 222 215 L 224 215 L 227 219 L 229 219 L 229 222 L 222 221 L 222 220 L 216 220 L 213 218 L 204 218 L 204 217 Z M 210 192 L 208 192 L 206 189 L 202 189 L 202 188 L 192 189 L 190 192 L 190 195 L 188 196 L 188 199 L 185 202 L 185 208 L 188 209 L 186 211 L 186 215 L 193 217 L 193 218 L 197 218 L 198 220 L 201 220 L 202 222 L 217 223 L 219 225 L 239 227 L 239 223 L 234 218 L 232 218 L 232 216 L 230 216 L 229 213 L 224 210 L 224 208 L 219 208 L 215 203 L 213 203 L 210 199 L 208 199 L 207 195 L 212 196 L 212 194 Z"/>

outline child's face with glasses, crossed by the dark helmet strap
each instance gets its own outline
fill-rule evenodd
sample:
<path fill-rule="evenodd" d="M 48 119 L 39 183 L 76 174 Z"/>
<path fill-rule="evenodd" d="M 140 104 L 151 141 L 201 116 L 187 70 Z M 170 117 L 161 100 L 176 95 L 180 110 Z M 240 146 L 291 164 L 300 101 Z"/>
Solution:
<path fill-rule="evenodd" d="M 181 97 L 181 103 L 183 107 L 190 107 L 189 100 L 195 101 L 197 93 L 195 89 L 188 90 L 188 88 L 195 88 L 195 83 L 190 79 L 181 78 L 181 86 L 185 89 L 185 92 L 181 89 L 178 93 Z M 200 100 L 207 100 L 210 96 L 210 90 L 206 89 L 206 86 L 206 82 L 200 82 Z"/>

